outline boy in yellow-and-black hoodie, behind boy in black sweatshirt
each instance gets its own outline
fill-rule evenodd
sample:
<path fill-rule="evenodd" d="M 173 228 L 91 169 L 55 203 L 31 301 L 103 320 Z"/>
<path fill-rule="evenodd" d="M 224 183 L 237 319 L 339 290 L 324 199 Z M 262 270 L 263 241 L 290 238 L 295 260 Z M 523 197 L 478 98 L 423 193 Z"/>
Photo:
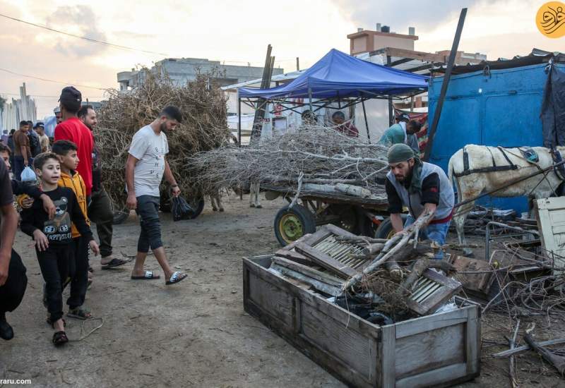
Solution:
<path fill-rule="evenodd" d="M 76 167 L 78 166 L 78 147 L 69 140 L 57 140 L 53 143 L 52 152 L 57 154 L 61 163 L 61 178 L 59 178 L 59 186 L 70 188 L 76 195 L 78 207 L 84 214 L 86 223 L 90 226 L 90 220 L 86 212 L 86 188 Z M 83 303 L 88 289 L 88 241 L 78 233 L 76 226 L 73 224 L 71 230 L 73 236 L 74 260 L 71 260 L 71 293 L 66 303 L 69 305 L 69 313 L 67 316 L 85 320 L 92 315 L 88 310 L 83 308 Z"/>

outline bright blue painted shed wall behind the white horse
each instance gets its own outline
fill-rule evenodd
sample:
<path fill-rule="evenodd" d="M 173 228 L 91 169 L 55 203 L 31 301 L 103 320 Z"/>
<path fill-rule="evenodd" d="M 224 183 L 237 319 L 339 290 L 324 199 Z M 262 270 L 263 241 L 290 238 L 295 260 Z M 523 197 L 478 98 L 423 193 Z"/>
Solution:
<path fill-rule="evenodd" d="M 454 75 L 429 162 L 447 171 L 449 158 L 464 145 L 530 147 L 542 145 L 545 64 Z M 559 67 L 565 67 L 559 65 Z M 434 112 L 444 78 L 432 78 L 429 86 L 429 119 Z M 526 198 L 484 198 L 481 205 L 517 212 L 528 210 Z"/>

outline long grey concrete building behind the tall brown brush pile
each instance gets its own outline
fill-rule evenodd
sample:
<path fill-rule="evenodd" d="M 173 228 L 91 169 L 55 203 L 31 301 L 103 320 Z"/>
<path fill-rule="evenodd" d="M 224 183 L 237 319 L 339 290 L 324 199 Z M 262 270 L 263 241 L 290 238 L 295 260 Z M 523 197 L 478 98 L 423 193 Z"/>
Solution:
<path fill-rule="evenodd" d="M 194 80 L 196 74 L 215 73 L 215 80 L 220 86 L 242 83 L 263 77 L 263 68 L 257 66 L 225 65 L 220 61 L 208 61 L 201 58 L 167 58 L 155 63 L 150 71 L 162 71 L 177 85 L 184 85 L 187 81 Z M 273 68 L 273 75 L 282 74 L 282 68 Z M 131 69 L 118 73 L 119 90 L 131 90 L 143 84 L 145 71 Z"/>

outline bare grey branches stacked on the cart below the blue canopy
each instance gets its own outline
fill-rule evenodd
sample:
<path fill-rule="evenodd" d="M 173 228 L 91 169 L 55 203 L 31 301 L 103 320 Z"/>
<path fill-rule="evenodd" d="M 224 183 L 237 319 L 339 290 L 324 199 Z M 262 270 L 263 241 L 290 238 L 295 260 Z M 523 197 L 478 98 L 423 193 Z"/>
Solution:
<path fill-rule="evenodd" d="M 202 184 L 215 187 L 246 186 L 260 182 L 302 188 L 345 184 L 366 188 L 367 195 L 383 198 L 376 183 L 387 169 L 387 147 L 362 143 L 331 128 L 310 126 L 273 136 L 246 147 L 225 145 L 189 159 L 189 168 Z M 338 186 L 340 188 L 341 186 Z"/>

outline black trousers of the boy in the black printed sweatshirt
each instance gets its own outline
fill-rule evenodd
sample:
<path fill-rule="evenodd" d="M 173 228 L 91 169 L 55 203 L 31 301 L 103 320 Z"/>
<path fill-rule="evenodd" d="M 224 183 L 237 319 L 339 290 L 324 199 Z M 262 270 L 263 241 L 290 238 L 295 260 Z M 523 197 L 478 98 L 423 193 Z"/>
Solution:
<path fill-rule="evenodd" d="M 49 245 L 47 250 L 37 253 L 41 274 L 45 281 L 47 294 L 47 312 L 52 322 L 63 317 L 63 283 L 69 276 L 69 260 L 71 260 L 71 244 Z"/>

